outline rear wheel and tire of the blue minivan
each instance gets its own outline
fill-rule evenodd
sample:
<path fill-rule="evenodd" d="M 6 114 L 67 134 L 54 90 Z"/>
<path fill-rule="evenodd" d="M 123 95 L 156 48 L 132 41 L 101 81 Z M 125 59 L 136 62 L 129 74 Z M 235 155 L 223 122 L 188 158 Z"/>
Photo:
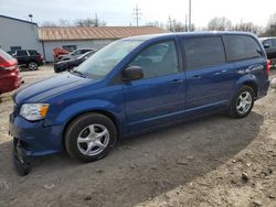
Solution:
<path fill-rule="evenodd" d="M 244 118 L 252 111 L 255 95 L 250 86 L 242 86 L 231 100 L 229 113 L 233 118 Z"/>

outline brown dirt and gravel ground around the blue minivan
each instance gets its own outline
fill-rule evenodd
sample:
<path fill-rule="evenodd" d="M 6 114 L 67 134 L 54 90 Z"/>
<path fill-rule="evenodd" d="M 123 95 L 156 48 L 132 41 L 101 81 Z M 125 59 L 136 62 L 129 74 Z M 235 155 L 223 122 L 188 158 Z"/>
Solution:
<path fill-rule="evenodd" d="M 23 72 L 25 81 L 54 75 Z M 272 73 L 270 77 L 276 77 Z M 120 141 L 104 160 L 65 153 L 11 162 L 10 94 L 0 103 L 0 206 L 276 206 L 276 92 L 245 119 L 213 115 Z"/>

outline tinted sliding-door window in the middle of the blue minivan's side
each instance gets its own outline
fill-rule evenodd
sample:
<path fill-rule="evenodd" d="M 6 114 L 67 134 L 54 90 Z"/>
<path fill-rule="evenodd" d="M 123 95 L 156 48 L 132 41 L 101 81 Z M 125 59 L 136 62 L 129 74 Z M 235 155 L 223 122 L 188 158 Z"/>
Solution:
<path fill-rule="evenodd" d="M 225 63 L 224 46 L 220 36 L 185 39 L 183 43 L 188 69 Z"/>

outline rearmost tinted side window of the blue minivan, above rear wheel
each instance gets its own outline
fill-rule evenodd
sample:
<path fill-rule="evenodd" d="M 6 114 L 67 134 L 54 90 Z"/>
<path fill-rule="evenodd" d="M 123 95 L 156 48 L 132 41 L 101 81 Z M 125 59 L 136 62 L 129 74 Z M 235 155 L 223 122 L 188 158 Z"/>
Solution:
<path fill-rule="evenodd" d="M 240 61 L 263 56 L 257 42 L 246 35 L 225 35 L 224 43 L 227 61 Z"/>

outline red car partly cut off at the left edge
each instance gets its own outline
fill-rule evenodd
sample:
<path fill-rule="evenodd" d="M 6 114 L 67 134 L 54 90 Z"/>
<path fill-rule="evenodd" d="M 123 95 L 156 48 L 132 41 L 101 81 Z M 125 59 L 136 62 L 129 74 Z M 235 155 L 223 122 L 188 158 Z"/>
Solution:
<path fill-rule="evenodd" d="M 0 48 L 0 94 L 19 88 L 21 83 L 18 61 Z"/>

